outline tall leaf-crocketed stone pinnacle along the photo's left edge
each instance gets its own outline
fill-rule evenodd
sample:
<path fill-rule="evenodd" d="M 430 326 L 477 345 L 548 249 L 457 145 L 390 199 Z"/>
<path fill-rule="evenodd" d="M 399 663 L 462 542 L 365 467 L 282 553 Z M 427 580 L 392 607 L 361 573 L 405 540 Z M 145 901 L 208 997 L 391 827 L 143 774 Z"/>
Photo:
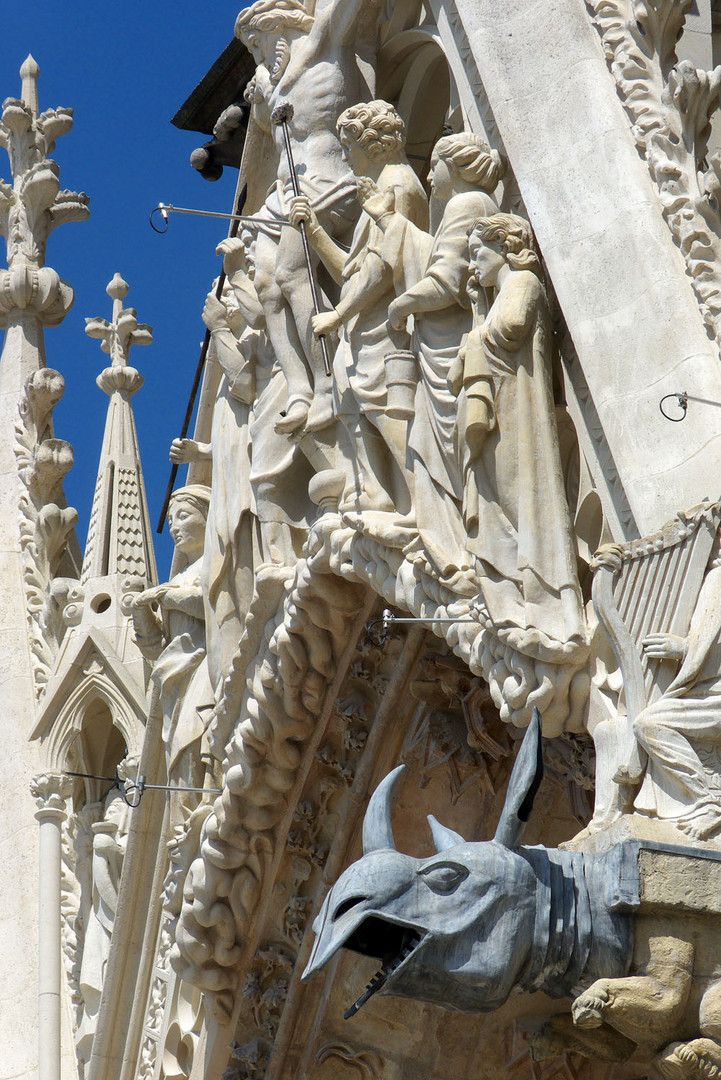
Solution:
<path fill-rule="evenodd" d="M 52 586 L 60 576 L 77 577 L 80 567 L 80 552 L 76 559 L 72 550 L 74 512 L 63 495 L 72 448 L 54 437 L 52 422 L 64 383 L 59 373 L 45 367 L 43 338 L 45 327 L 62 322 L 73 293 L 45 266 L 45 247 L 58 225 L 89 216 L 87 197 L 60 191 L 58 166 L 50 160 L 55 141 L 72 127 L 72 111 L 40 112 L 38 76 L 28 56 L 21 69 L 21 97 L 5 98 L 0 116 L 0 146 L 8 151 L 11 173 L 9 181 L 0 180 L 0 234 L 8 247 L 6 269 L 0 269 L 0 328 L 5 330 L 0 357 L 0 847 L 6 853 L 0 865 L 0 955 L 13 956 L 23 971 L 0 1011 L 5 1062 L 23 1080 L 59 1075 L 63 1055 L 64 1075 L 74 1067 L 71 1049 L 62 1050 L 58 1039 L 47 1037 L 52 1024 L 40 1040 L 40 1062 L 36 1039 L 28 1035 L 39 993 L 39 919 L 27 891 L 38 881 L 39 858 L 28 785 L 32 777 L 57 771 L 46 748 L 28 740 L 56 659 L 57 634 L 65 632 L 55 619 Z M 53 975 L 50 990 L 51 974 L 43 976 L 41 1012 L 57 1020 L 59 975 Z"/>

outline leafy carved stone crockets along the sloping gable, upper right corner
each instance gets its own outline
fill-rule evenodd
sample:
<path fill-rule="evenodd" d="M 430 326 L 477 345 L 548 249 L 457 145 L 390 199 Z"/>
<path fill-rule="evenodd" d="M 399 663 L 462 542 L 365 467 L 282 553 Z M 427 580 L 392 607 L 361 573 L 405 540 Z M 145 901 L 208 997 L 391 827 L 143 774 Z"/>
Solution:
<path fill-rule="evenodd" d="M 692 0 L 586 0 L 618 95 L 681 248 L 704 320 L 721 337 L 721 152 L 706 160 L 721 67 L 678 63 Z"/>

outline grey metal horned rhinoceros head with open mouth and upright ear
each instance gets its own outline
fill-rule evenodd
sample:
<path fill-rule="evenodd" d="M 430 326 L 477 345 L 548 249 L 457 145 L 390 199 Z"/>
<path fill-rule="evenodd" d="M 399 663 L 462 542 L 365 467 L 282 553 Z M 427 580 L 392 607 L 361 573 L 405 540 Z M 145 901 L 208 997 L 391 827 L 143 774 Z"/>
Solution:
<path fill-rule="evenodd" d="M 535 875 L 517 845 L 543 774 L 541 716 L 534 708 L 491 841 L 467 842 L 430 816 L 436 854 L 414 859 L 397 851 L 391 798 L 403 768 L 370 799 L 363 858 L 326 897 L 303 980 L 348 948 L 382 967 L 346 1017 L 379 990 L 489 1012 L 518 984 L 533 939 Z"/>

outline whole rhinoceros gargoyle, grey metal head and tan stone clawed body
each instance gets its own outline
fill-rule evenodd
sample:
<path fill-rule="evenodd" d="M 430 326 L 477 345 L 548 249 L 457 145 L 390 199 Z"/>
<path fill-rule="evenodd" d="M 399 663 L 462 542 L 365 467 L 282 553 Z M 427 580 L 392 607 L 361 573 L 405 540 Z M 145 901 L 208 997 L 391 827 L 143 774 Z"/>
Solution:
<path fill-rule="evenodd" d="M 498 1009 L 514 989 L 572 996 L 571 1015 L 536 1037 L 538 1057 L 636 1055 L 667 1077 L 710 1077 L 721 1065 L 718 930 L 709 908 L 683 910 L 680 882 L 716 880 L 719 861 L 676 866 L 674 849 L 632 843 L 601 855 L 518 847 L 543 772 L 540 726 L 535 710 L 490 842 L 468 843 L 430 816 L 436 854 L 402 854 L 391 826 L 402 768 L 385 778 L 368 805 L 363 859 L 314 923 L 303 978 L 342 947 L 381 959 L 346 1017 L 379 991 L 463 1012 Z M 667 877 L 654 885 L 662 860 Z"/>

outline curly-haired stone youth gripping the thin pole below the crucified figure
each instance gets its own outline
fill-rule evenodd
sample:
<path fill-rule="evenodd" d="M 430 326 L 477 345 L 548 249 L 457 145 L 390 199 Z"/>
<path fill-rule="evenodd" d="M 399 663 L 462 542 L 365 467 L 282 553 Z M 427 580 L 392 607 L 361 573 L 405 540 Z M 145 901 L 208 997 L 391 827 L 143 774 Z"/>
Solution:
<path fill-rule="evenodd" d="M 427 200 L 406 159 L 405 124 L 393 106 L 387 102 L 352 106 L 339 117 L 338 134 L 355 175 L 372 179 L 381 193 L 392 198 L 397 213 L 425 230 Z M 348 252 L 323 229 L 305 197 L 293 201 L 290 220 L 305 222 L 311 244 L 341 286 L 335 309 L 313 319 L 315 334 L 342 330 L 334 361 L 336 415 L 350 442 L 349 485 L 341 505 L 406 514 L 411 485 L 406 424 L 387 413 L 384 357 L 394 348 L 407 348 L 408 337 L 400 332 L 389 336 L 387 309 L 395 293 L 393 267 L 383 258 L 383 234 L 364 212 Z"/>

